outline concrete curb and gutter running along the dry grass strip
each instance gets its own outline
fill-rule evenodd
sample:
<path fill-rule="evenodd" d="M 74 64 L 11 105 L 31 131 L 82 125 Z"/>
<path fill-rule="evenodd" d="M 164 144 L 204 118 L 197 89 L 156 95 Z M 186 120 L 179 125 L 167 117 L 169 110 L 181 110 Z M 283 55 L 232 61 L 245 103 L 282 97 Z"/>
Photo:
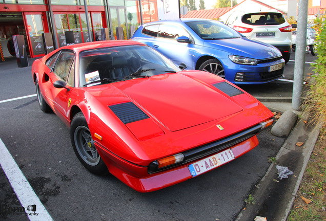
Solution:
<path fill-rule="evenodd" d="M 270 195 L 275 193 L 275 186 L 282 189 L 286 193 L 282 195 L 281 201 L 277 201 L 279 207 L 273 211 L 273 215 L 269 214 L 266 216 L 272 216 L 269 217 L 270 220 L 287 220 L 293 206 L 295 196 L 299 190 L 305 168 L 309 163 L 312 151 L 318 139 L 319 130 L 320 128 L 318 127 L 312 128 L 311 131 L 308 132 L 308 139 L 304 144 L 305 148 L 297 147 L 295 144 L 298 139 L 300 139 L 302 135 L 307 134 L 304 123 L 302 121 L 297 123 L 275 157 L 278 165 L 288 166 L 288 157 L 298 156 L 300 159 L 297 159 L 297 167 L 293 168 L 294 174 L 297 174 L 297 177 L 295 178 L 294 175 L 291 175 L 289 179 L 276 183 L 275 179 L 277 179 L 277 169 L 275 167 L 276 164 L 272 163 L 266 174 L 259 181 L 259 184 L 256 185 L 256 188 L 253 190 L 252 196 L 255 198 L 257 204 L 246 206 L 246 210 L 242 210 L 239 213 L 238 217 L 235 219 L 236 221 L 250 221 L 254 220 L 257 215 L 263 216 L 258 214 L 258 211 L 262 209 L 264 203 L 270 200 Z M 287 188 L 284 188 L 284 185 L 286 185 Z"/>

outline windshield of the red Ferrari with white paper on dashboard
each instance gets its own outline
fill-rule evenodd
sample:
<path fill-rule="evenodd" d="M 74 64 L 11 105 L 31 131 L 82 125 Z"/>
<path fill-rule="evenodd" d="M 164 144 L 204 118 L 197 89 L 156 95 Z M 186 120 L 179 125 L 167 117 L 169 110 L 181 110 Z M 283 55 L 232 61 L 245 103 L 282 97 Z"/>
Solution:
<path fill-rule="evenodd" d="M 149 68 L 150 67 L 150 68 Z M 99 48 L 79 55 L 79 85 L 93 86 L 180 71 L 147 46 Z"/>

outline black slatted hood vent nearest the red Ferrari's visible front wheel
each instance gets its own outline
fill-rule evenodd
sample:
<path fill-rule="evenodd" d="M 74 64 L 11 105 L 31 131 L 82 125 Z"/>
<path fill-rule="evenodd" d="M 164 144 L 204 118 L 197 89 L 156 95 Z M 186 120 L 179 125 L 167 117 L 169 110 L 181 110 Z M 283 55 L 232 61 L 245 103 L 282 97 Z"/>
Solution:
<path fill-rule="evenodd" d="M 109 107 L 124 124 L 149 118 L 132 102 L 115 104 Z"/>

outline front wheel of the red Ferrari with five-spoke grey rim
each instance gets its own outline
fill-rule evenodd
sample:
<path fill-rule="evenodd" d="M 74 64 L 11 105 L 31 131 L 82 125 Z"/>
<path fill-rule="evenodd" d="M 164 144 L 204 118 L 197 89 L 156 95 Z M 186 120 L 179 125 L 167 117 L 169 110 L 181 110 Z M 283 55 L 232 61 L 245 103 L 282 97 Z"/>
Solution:
<path fill-rule="evenodd" d="M 81 112 L 72 119 L 70 139 L 78 160 L 86 169 L 97 175 L 108 174 L 108 168 L 95 148 L 86 119 Z"/>

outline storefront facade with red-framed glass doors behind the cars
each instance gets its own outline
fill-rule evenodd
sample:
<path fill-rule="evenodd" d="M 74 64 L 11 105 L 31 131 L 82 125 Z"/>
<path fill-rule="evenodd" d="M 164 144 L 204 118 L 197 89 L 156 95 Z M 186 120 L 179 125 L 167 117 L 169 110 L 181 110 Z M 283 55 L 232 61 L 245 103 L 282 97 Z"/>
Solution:
<path fill-rule="evenodd" d="M 43 33 L 52 34 L 54 48 L 67 44 L 67 31 L 73 31 L 75 43 L 102 40 L 103 30 L 108 31 L 106 40 L 128 39 L 142 23 L 158 20 L 157 2 L 159 0 L 0 0 L 0 40 L 4 57 L 15 54 L 13 35 L 24 35 L 30 57 L 45 55 Z M 119 35 L 116 31 L 120 31 Z"/>

